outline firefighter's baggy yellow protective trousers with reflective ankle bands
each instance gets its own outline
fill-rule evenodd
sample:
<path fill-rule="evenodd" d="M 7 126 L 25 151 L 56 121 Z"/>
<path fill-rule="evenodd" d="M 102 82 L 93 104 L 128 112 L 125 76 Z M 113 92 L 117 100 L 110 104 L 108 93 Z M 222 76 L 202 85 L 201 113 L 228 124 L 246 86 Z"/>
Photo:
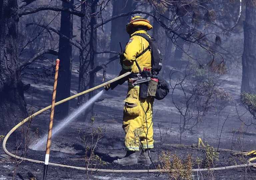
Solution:
<path fill-rule="evenodd" d="M 129 87 L 124 100 L 123 129 L 126 150 L 154 148 L 152 107 L 154 98 L 139 99 L 139 86 Z"/>

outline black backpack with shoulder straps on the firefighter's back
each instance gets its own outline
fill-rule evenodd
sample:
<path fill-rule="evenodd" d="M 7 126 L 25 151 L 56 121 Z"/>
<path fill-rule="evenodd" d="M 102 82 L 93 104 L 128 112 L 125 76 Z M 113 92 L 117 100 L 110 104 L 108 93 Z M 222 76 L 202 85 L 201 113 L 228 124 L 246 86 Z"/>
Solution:
<path fill-rule="evenodd" d="M 144 54 L 149 49 L 151 51 L 151 66 L 152 66 L 151 73 L 153 75 L 157 75 L 162 69 L 163 59 L 161 56 L 161 52 L 158 49 L 156 43 L 147 34 L 138 33 L 138 34 L 134 34 L 133 36 L 141 36 L 145 40 L 147 40 L 147 42 L 149 43 L 149 46 L 146 49 L 144 49 L 140 54 L 138 54 L 136 58 Z"/>

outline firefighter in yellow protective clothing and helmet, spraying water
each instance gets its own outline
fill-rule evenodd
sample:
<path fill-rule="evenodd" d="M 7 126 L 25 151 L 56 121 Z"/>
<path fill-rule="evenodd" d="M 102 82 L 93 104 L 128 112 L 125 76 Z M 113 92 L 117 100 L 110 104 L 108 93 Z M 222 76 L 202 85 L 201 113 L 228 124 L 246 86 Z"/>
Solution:
<path fill-rule="evenodd" d="M 126 31 L 130 35 L 130 40 L 125 51 L 120 53 L 122 71 L 132 72 L 132 75 L 141 73 L 140 69 L 151 69 L 151 51 L 149 43 L 138 33 L 147 34 L 153 27 L 150 22 L 140 16 L 135 16 L 126 26 Z M 150 36 L 149 36 L 150 37 Z M 147 48 L 147 49 L 146 49 Z M 141 54 L 139 57 L 138 54 Z M 105 89 L 113 89 L 116 84 L 109 84 Z M 125 132 L 126 155 L 122 159 L 115 160 L 114 163 L 127 164 L 151 164 L 150 149 L 154 147 L 152 107 L 154 97 L 139 97 L 140 86 L 132 86 L 128 81 L 127 97 L 124 100 L 123 130 Z M 141 153 L 136 153 L 141 149 Z"/>

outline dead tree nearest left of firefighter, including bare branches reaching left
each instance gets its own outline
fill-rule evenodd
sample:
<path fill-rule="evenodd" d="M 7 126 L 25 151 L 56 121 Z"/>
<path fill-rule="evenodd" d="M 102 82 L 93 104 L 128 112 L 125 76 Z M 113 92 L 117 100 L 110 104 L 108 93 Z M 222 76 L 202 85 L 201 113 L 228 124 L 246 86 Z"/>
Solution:
<path fill-rule="evenodd" d="M 80 34 L 80 42 L 74 41 L 69 34 L 63 34 L 62 31 L 56 30 L 50 25 L 37 24 L 37 23 L 29 23 L 27 26 L 36 25 L 42 28 L 45 28 L 48 31 L 54 32 L 60 36 L 62 41 L 65 41 L 65 44 L 69 43 L 70 45 L 74 45 L 79 49 L 79 83 L 78 83 L 78 92 L 82 92 L 86 89 L 92 88 L 94 86 L 95 75 L 97 71 L 94 71 L 95 68 L 95 56 L 98 53 L 96 51 L 97 41 L 97 29 L 95 28 L 97 18 L 101 18 L 101 12 L 106 7 L 109 0 L 89 0 L 89 1 L 81 1 L 78 3 L 78 7 L 74 10 L 74 8 L 69 9 L 67 11 L 69 14 L 77 15 L 80 17 L 81 22 L 81 34 Z M 46 8 L 45 6 L 40 8 Z M 54 8 L 50 8 L 51 10 Z M 66 12 L 66 7 L 58 7 L 57 10 Z M 33 10 L 36 12 L 36 10 Z M 69 63 L 68 63 L 69 64 Z M 68 66 L 70 67 L 70 66 Z M 70 71 L 67 70 L 67 71 Z M 69 83 L 70 85 L 70 83 Z M 78 97 L 78 105 L 87 101 L 93 96 L 93 93 L 89 93 L 83 96 Z M 92 107 L 87 110 L 87 112 L 92 111 Z M 87 114 L 87 113 L 85 113 Z"/>

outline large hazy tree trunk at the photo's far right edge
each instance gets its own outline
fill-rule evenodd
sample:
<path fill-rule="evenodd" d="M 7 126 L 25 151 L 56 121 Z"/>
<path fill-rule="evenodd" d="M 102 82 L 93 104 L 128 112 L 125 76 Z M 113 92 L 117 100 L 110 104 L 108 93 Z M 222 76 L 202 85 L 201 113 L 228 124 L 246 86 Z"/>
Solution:
<path fill-rule="evenodd" d="M 241 92 L 256 93 L 256 7 L 250 1 L 246 2 L 242 65 Z"/>

